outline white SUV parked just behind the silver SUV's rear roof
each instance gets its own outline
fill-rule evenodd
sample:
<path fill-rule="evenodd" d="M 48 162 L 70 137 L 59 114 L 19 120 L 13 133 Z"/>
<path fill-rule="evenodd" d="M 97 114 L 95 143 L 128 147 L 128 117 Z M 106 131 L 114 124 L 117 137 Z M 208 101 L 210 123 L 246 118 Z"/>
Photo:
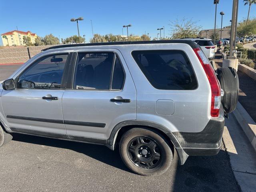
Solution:
<path fill-rule="evenodd" d="M 183 39 L 192 40 L 196 42 L 209 60 L 214 59 L 215 46 L 211 39 L 207 39 L 207 38 L 183 38 Z"/>

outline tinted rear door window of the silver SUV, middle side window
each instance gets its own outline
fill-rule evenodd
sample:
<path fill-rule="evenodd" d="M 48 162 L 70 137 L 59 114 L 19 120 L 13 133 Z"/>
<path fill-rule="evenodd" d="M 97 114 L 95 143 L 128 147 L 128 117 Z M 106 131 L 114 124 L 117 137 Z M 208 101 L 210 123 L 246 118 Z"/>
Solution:
<path fill-rule="evenodd" d="M 109 52 L 79 53 L 73 88 L 121 90 L 124 77 L 122 64 L 116 54 Z"/>

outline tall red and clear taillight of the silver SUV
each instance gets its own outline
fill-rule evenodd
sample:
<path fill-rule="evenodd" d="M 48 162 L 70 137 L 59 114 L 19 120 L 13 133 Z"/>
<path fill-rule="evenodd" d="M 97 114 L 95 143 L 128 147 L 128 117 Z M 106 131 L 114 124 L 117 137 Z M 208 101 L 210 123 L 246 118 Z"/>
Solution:
<path fill-rule="evenodd" d="M 211 102 L 211 116 L 218 117 L 220 113 L 220 103 L 221 103 L 221 96 L 220 96 L 220 84 L 215 75 L 215 72 L 210 66 L 209 60 L 206 58 L 204 53 L 200 48 L 194 48 L 194 52 L 198 57 L 200 63 L 204 68 L 204 72 L 209 80 L 211 91 L 212 91 L 212 102 Z"/>

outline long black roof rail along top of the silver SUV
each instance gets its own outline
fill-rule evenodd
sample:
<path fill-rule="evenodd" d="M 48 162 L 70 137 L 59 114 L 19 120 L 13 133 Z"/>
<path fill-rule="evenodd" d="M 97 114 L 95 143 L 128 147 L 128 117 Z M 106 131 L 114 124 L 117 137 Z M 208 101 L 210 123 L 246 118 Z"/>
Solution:
<path fill-rule="evenodd" d="M 121 42 L 104 42 L 104 43 L 62 44 L 62 45 L 45 48 L 42 51 L 46 51 L 49 49 L 57 49 L 57 48 L 68 48 L 68 47 L 131 45 L 131 44 L 162 44 L 162 43 L 184 43 L 184 44 L 190 45 L 192 48 L 198 47 L 197 44 L 191 40 L 174 39 L 174 40 L 156 40 L 156 41 L 121 41 Z"/>

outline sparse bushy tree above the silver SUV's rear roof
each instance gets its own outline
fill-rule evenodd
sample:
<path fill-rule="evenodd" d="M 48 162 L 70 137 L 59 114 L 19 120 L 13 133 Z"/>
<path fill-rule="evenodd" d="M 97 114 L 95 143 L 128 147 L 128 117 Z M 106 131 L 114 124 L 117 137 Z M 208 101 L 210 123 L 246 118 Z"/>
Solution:
<path fill-rule="evenodd" d="M 197 21 L 188 20 L 187 18 L 183 18 L 181 21 L 178 19 L 174 22 L 170 21 L 169 25 L 172 31 L 172 39 L 196 37 L 202 28 L 197 25 Z"/>

